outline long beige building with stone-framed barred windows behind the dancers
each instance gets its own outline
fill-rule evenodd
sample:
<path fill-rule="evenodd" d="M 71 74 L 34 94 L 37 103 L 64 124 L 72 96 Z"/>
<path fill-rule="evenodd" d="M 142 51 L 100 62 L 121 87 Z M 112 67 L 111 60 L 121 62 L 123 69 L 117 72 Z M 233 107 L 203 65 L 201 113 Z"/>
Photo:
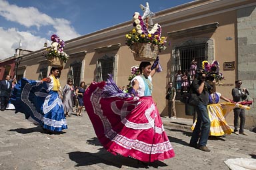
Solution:
<path fill-rule="evenodd" d="M 162 36 L 167 38 L 167 49 L 159 54 L 163 72 L 153 78 L 153 98 L 161 116 L 167 116 L 165 92 L 167 83 L 175 84 L 177 70 L 188 70 L 191 60 L 217 60 L 225 79 L 217 91 L 232 98 L 231 89 L 235 80 L 243 80 L 243 86 L 255 99 L 256 64 L 256 2 L 254 0 L 199 0 L 159 11 L 153 23 L 162 27 Z M 136 9 L 135 9 L 136 10 Z M 143 15 L 139 7 L 137 12 Z M 131 17 L 133 13 L 129 14 Z M 133 29 L 127 21 L 107 29 L 66 41 L 65 52 L 70 55 L 61 71 L 61 84 L 73 78 L 76 85 L 81 81 L 106 80 L 113 74 L 118 86 L 129 84 L 130 68 L 138 65 L 133 60 L 131 49 L 125 44 L 125 34 Z M 49 74 L 44 50 L 37 50 L 22 56 L 17 74 L 29 79 L 41 79 Z M 176 102 L 177 117 L 185 115 L 185 106 Z M 246 111 L 246 128 L 256 126 L 255 105 Z M 233 125 L 233 112 L 227 116 Z"/>

